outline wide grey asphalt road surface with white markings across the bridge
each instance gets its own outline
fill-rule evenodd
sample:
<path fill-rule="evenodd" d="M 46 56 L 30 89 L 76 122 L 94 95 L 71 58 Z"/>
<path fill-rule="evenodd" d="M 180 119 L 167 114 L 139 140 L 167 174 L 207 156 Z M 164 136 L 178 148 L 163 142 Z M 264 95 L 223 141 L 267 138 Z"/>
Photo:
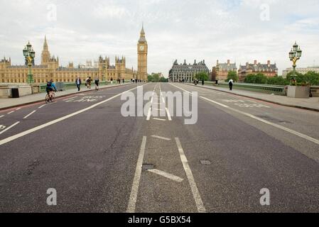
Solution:
<path fill-rule="evenodd" d="M 122 116 L 136 84 L 0 111 L 0 211 L 319 211 L 318 112 L 187 84 L 141 87 L 165 116 L 147 106 Z M 198 121 L 170 113 L 166 92 L 198 92 Z"/>

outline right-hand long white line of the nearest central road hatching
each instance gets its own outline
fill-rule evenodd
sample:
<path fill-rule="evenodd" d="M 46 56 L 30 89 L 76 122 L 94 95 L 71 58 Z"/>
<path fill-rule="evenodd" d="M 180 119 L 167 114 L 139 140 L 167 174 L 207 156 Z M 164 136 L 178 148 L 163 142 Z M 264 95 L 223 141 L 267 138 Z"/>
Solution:
<path fill-rule="evenodd" d="M 183 167 L 184 167 L 185 173 L 188 177 L 188 182 L 190 183 L 190 189 L 192 189 L 193 197 L 195 199 L 195 203 L 196 203 L 196 206 L 198 208 L 198 212 L 199 213 L 206 213 L 205 206 L 202 203 L 202 197 L 200 196 L 200 191 L 198 190 L 198 187 L 196 185 L 192 170 L 190 170 L 190 166 L 188 165 L 188 160 L 185 156 L 183 147 L 180 143 L 180 139 L 175 138 L 175 140 L 176 140 L 176 144 L 178 146 L 178 151 L 180 153 L 180 160 L 182 160 L 182 162 L 183 162 Z"/>

